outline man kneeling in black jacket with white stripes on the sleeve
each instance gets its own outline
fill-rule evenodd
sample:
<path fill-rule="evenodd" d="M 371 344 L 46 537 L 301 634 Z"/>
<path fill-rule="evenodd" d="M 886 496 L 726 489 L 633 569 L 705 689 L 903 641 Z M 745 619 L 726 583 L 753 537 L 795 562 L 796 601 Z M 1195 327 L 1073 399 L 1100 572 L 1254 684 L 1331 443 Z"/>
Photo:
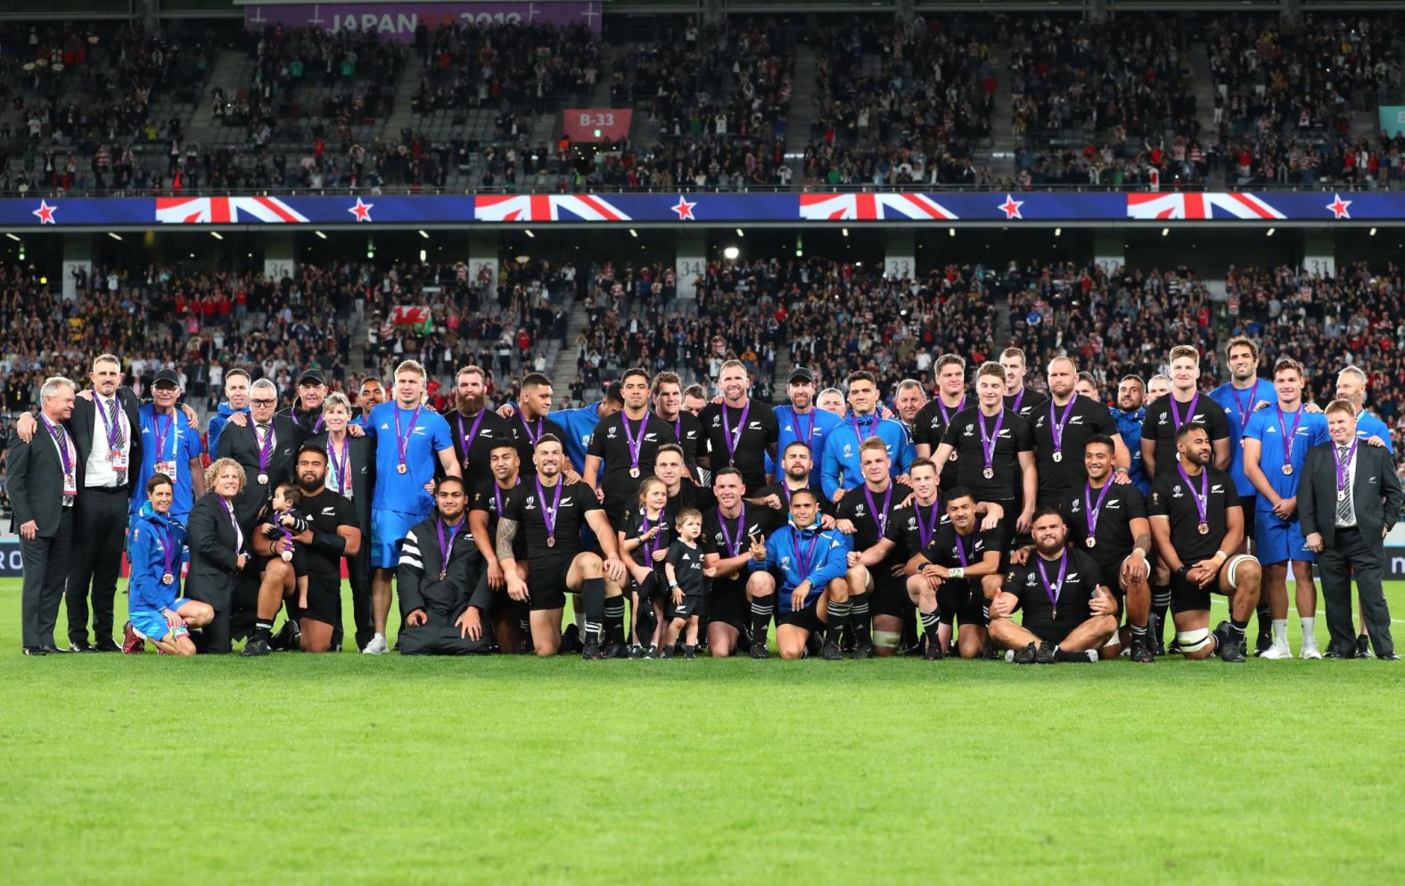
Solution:
<path fill-rule="evenodd" d="M 492 593 L 479 588 L 483 555 L 468 531 L 468 493 L 458 477 L 434 490 L 434 514 L 405 535 L 400 588 L 402 656 L 471 656 L 489 652 L 483 622 Z M 475 588 L 478 593 L 473 594 Z M 473 594 L 471 598 L 469 594 Z"/>

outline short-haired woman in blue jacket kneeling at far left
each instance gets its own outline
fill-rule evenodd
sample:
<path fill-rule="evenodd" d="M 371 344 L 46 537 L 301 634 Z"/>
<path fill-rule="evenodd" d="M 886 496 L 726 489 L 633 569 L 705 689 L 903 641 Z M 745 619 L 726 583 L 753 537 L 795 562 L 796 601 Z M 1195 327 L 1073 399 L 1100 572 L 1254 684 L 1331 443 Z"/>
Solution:
<path fill-rule="evenodd" d="M 143 640 L 169 656 L 194 656 L 191 628 L 202 628 L 215 618 L 209 604 L 180 595 L 181 564 L 185 562 L 185 527 L 170 515 L 174 487 L 164 473 L 146 482 L 146 504 L 132 524 L 126 556 L 131 563 L 128 584 L 126 637 L 122 652 L 139 654 Z"/>

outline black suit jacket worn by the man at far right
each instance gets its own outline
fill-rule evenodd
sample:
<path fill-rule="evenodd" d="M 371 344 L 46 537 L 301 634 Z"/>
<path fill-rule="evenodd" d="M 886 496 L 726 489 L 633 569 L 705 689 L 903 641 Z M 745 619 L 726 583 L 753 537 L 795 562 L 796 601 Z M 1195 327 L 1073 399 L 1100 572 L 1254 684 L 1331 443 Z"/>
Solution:
<path fill-rule="evenodd" d="M 1302 483 L 1298 486 L 1298 515 L 1302 535 L 1322 534 L 1328 548 L 1336 543 L 1336 444 L 1325 442 L 1308 449 L 1302 462 Z M 1356 482 L 1352 484 L 1352 504 L 1356 525 L 1368 545 L 1381 545 L 1385 532 L 1395 525 L 1401 513 L 1401 482 L 1395 463 L 1385 447 L 1356 448 Z"/>

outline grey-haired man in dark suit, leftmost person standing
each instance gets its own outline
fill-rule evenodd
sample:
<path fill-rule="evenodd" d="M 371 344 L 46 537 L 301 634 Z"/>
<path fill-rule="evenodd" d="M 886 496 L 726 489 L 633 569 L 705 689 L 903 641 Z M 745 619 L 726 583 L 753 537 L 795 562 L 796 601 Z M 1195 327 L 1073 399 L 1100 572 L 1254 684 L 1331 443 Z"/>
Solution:
<path fill-rule="evenodd" d="M 24 654 L 46 656 L 63 600 L 63 581 L 73 546 L 73 504 L 79 494 L 79 451 L 65 430 L 73 414 L 74 386 L 52 376 L 39 389 L 39 430 L 25 442 L 10 438 L 10 507 L 24 557 L 21 628 Z"/>

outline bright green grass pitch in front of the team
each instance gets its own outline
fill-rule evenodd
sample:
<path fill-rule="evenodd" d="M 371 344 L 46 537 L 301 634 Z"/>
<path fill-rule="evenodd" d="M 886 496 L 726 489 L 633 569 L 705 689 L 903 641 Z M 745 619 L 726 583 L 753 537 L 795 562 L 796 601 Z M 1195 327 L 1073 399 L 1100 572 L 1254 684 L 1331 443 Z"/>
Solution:
<path fill-rule="evenodd" d="M 7 883 L 1405 876 L 1402 664 L 25 659 L 18 591 Z"/>

